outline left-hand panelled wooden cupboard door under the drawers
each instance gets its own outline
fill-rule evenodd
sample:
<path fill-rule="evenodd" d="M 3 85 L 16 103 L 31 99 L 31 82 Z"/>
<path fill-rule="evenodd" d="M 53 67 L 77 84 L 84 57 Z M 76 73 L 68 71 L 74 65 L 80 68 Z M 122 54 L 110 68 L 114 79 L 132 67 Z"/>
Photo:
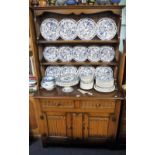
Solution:
<path fill-rule="evenodd" d="M 48 136 L 69 137 L 70 115 L 67 113 L 46 114 Z"/>

